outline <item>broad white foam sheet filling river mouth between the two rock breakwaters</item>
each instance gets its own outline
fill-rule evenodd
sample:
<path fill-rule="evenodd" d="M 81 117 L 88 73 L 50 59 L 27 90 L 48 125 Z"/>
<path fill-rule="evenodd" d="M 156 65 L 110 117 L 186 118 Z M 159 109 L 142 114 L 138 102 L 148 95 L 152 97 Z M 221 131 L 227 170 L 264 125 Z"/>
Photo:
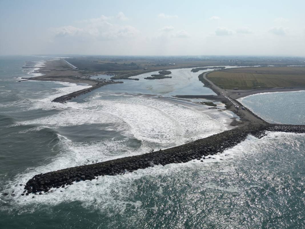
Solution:
<path fill-rule="evenodd" d="M 44 106 L 45 100 L 42 101 Z M 125 130 L 128 132 L 126 135 L 148 142 L 149 145 L 161 144 L 163 147 L 183 144 L 227 129 L 225 125 L 201 111 L 145 97 L 118 96 L 114 101 L 97 98 L 86 103 L 69 102 L 64 106 L 67 109 L 55 115 L 19 124 L 61 127 L 120 123 L 120 126 L 130 127 Z M 37 108 L 37 105 L 34 108 Z"/>

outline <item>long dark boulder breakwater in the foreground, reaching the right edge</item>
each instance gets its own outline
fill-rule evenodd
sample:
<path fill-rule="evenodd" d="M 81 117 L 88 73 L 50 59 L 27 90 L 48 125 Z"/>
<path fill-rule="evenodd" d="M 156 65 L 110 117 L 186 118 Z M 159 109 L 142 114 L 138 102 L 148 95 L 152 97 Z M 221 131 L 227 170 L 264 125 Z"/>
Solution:
<path fill-rule="evenodd" d="M 151 151 L 146 154 L 41 173 L 35 175 L 25 184 L 25 190 L 22 195 L 37 192 L 39 194 L 48 193 L 54 191 L 54 189 L 56 190 L 56 188 L 71 185 L 74 182 L 93 180 L 98 176 L 114 176 L 133 172 L 137 169 L 145 169 L 154 165 L 213 159 L 214 154 L 223 153 L 224 150 L 234 147 L 245 140 L 248 134 L 261 138 L 266 135 L 266 131 L 305 133 L 305 125 L 244 125 L 165 150 Z"/>

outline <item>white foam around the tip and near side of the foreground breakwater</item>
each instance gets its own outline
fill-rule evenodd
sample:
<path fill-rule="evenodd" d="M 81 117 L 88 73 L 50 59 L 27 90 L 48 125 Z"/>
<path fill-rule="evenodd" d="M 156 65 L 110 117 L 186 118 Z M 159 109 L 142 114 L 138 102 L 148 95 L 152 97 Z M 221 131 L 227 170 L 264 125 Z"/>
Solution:
<path fill-rule="evenodd" d="M 305 134 L 303 134 L 305 136 Z M 277 138 L 275 138 L 277 136 Z M 53 193 L 49 193 L 48 195 L 35 195 L 35 198 L 30 196 L 21 197 L 20 194 L 23 191 L 23 187 L 19 186 L 20 183 L 26 183 L 26 181 L 34 176 L 37 173 L 44 173 L 51 170 L 56 170 L 59 168 L 63 168 L 67 166 L 67 163 L 70 166 L 75 164 L 77 160 L 83 160 L 83 156 L 76 157 L 75 154 L 67 154 L 66 152 L 62 152 L 58 158 L 53 160 L 48 165 L 39 166 L 34 169 L 30 169 L 26 173 L 20 174 L 9 184 L 8 191 L 15 191 L 17 194 L 11 200 L 14 205 L 20 209 L 20 211 L 35 211 L 35 206 L 40 207 L 41 205 L 58 205 L 62 202 L 73 202 L 80 201 L 83 207 L 88 209 L 99 209 L 104 213 L 109 215 L 124 213 L 124 210 L 127 206 L 132 206 L 134 210 L 138 214 L 142 214 L 145 211 L 142 202 L 130 201 L 130 199 L 134 199 L 135 193 L 138 191 L 138 187 L 135 182 L 139 179 L 145 179 L 145 177 L 149 177 L 149 180 L 152 182 L 156 182 L 157 195 L 163 195 L 163 184 L 160 182 L 160 177 L 168 177 L 168 179 L 180 179 L 181 182 L 192 185 L 198 185 L 192 180 L 188 180 L 186 178 L 186 174 L 190 171 L 198 171 L 199 176 L 202 174 L 205 175 L 206 169 L 211 169 L 211 165 L 221 165 L 223 164 L 224 168 L 220 169 L 219 172 L 222 173 L 230 173 L 234 172 L 234 168 L 228 167 L 227 164 L 231 160 L 235 160 L 237 157 L 245 157 L 249 156 L 249 154 L 257 154 L 260 155 L 264 153 L 264 147 L 269 146 L 272 147 L 277 142 L 285 141 L 289 144 L 290 140 L 295 139 L 296 134 L 294 133 L 281 133 L 281 132 L 271 132 L 268 136 L 265 136 L 262 139 L 257 139 L 253 136 L 248 136 L 248 138 L 236 145 L 235 147 L 224 151 L 223 154 L 214 155 L 215 159 L 204 160 L 203 162 L 199 162 L 198 160 L 190 161 L 187 163 L 181 164 L 169 164 L 165 166 L 157 165 L 154 167 L 150 167 L 147 169 L 138 169 L 133 173 L 127 173 L 119 176 L 102 176 L 99 177 L 98 180 L 92 181 L 82 181 L 78 183 L 74 183 L 69 187 L 59 188 Z M 62 140 L 59 144 L 71 144 L 71 141 L 59 136 Z M 290 142 L 291 143 L 291 142 Z M 222 160 L 220 160 L 222 159 Z M 221 163 L 221 164 L 219 164 Z M 229 163 L 230 164 L 230 163 Z M 180 177 L 180 178 L 179 178 Z M 227 192 L 238 192 L 239 188 L 234 186 L 229 187 L 221 187 L 212 182 L 208 182 L 204 184 L 206 188 L 217 189 L 220 191 Z M 61 192 L 62 191 L 62 192 Z M 173 202 L 168 199 L 167 204 L 172 204 Z M 31 208 L 24 207 L 27 205 L 31 205 Z"/>

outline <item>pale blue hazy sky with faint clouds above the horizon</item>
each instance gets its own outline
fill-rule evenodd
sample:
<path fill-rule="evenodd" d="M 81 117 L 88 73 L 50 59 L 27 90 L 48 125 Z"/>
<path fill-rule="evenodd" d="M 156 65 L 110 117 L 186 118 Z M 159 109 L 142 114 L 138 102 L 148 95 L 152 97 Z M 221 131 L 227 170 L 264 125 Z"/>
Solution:
<path fill-rule="evenodd" d="M 304 0 L 0 0 L 0 55 L 305 56 L 304 8 Z"/>

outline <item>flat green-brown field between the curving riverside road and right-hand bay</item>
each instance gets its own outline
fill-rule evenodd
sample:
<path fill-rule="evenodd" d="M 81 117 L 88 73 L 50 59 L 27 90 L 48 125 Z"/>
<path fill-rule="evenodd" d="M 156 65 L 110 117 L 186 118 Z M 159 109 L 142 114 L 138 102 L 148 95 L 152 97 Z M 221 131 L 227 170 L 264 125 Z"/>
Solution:
<path fill-rule="evenodd" d="M 305 87 L 305 67 L 245 67 L 213 71 L 207 75 L 224 89 Z"/>

